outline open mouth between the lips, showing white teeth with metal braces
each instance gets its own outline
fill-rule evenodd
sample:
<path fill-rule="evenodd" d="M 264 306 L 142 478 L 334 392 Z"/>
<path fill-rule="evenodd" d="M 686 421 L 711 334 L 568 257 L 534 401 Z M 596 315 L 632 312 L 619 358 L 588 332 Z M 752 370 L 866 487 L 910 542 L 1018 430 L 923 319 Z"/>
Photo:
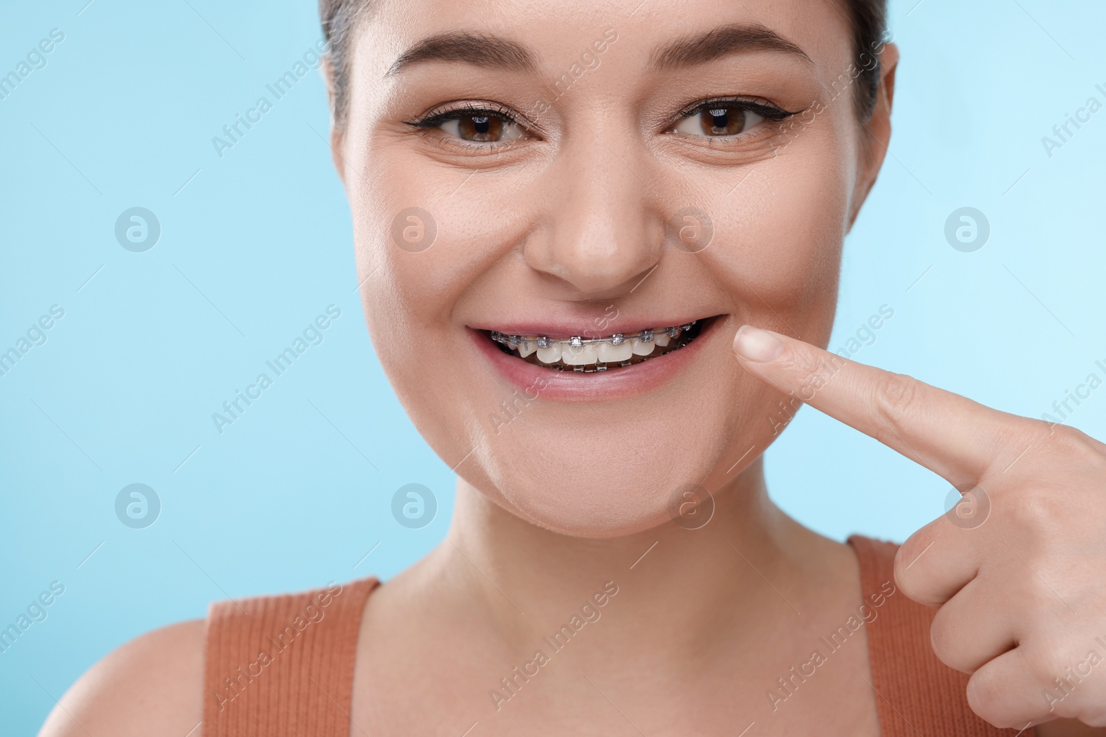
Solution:
<path fill-rule="evenodd" d="M 699 337 L 713 317 L 682 325 L 646 328 L 639 333 L 585 338 L 509 335 L 488 330 L 500 350 L 528 364 L 557 371 L 595 373 L 641 364 L 684 348 Z"/>

